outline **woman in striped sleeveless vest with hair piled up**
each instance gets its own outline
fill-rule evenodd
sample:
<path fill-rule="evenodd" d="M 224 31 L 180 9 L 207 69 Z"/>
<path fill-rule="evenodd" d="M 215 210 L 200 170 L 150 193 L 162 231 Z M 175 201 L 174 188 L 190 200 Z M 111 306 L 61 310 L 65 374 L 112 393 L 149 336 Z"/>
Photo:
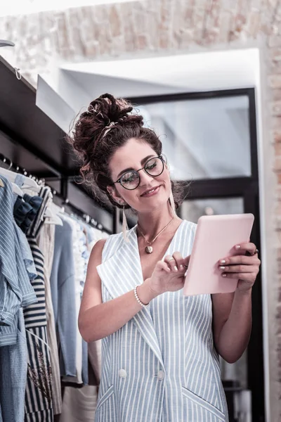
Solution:
<path fill-rule="evenodd" d="M 176 216 L 162 144 L 131 111 L 100 96 L 72 137 L 92 186 L 138 215 L 133 229 L 98 241 L 89 261 L 79 329 L 88 342 L 103 338 L 95 420 L 228 421 L 218 354 L 235 362 L 247 347 L 256 246 L 218 262 L 226 279 L 239 277 L 235 293 L 183 296 L 196 225 Z"/>

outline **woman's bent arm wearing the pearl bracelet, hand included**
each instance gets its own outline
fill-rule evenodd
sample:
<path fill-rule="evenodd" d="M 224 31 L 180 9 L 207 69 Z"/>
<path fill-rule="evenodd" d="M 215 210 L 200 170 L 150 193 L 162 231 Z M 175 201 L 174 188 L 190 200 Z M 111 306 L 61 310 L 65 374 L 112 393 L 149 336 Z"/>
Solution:
<path fill-rule="evenodd" d="M 101 282 L 96 267 L 101 263 L 104 244 L 104 240 L 98 241 L 93 247 L 81 300 L 78 325 L 81 336 L 87 342 L 115 333 L 142 309 L 136 301 L 133 290 L 119 298 L 102 302 Z M 157 262 L 152 276 L 138 286 L 137 293 L 141 302 L 146 304 L 167 290 L 175 291 L 183 288 L 185 274 L 183 264 L 188 262 L 189 257 L 178 260 L 177 252 L 174 255 L 177 258 L 178 270 L 174 269 L 174 260 L 170 260 L 170 264 L 169 260 Z"/>

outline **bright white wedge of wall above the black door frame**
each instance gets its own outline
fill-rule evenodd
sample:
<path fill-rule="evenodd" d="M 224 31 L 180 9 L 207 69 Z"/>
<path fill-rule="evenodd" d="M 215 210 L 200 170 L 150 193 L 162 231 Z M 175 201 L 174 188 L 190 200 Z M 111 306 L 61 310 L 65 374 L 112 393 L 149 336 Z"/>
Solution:
<path fill-rule="evenodd" d="M 119 77 L 190 91 L 253 87 L 259 80 L 259 49 L 208 51 L 178 56 L 65 64 L 61 69 L 82 74 Z M 94 80 L 94 79 L 93 79 Z M 87 89 L 91 89 L 89 84 Z M 114 87 L 108 86 L 108 91 Z M 110 91 L 111 92 L 111 91 Z M 126 96 L 134 96 L 132 87 Z M 146 93 L 144 93 L 146 95 Z"/>

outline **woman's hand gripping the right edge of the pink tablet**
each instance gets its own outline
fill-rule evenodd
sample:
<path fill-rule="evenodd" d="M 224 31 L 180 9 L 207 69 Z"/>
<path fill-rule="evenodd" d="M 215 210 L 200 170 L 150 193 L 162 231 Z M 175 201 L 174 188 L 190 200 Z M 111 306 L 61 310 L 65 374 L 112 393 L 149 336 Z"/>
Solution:
<path fill-rule="evenodd" d="M 239 250 L 240 255 L 222 258 L 218 268 L 226 279 L 239 279 L 237 289 L 245 292 L 254 286 L 261 261 L 254 243 L 241 243 L 235 250 Z"/>

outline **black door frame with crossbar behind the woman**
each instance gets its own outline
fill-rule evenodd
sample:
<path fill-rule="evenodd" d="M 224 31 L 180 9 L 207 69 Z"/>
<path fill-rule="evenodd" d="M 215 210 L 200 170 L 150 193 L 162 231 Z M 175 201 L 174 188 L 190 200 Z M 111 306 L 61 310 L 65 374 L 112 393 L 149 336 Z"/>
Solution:
<path fill-rule="evenodd" d="M 251 234 L 253 241 L 262 254 L 260 242 L 259 213 L 259 167 L 256 134 L 256 100 L 254 88 L 204 91 L 160 96 L 143 96 L 129 98 L 133 105 L 168 101 L 190 101 L 207 98 L 230 96 L 247 96 L 249 98 L 249 134 L 251 150 L 251 176 L 230 177 L 223 179 L 204 179 L 192 181 L 188 188 L 188 200 L 202 198 L 244 198 L 244 212 L 255 216 Z M 252 330 L 247 353 L 247 382 L 251 390 L 252 420 L 265 421 L 264 376 L 263 376 L 263 309 L 261 290 L 261 271 L 257 277 L 252 293 Z"/>

